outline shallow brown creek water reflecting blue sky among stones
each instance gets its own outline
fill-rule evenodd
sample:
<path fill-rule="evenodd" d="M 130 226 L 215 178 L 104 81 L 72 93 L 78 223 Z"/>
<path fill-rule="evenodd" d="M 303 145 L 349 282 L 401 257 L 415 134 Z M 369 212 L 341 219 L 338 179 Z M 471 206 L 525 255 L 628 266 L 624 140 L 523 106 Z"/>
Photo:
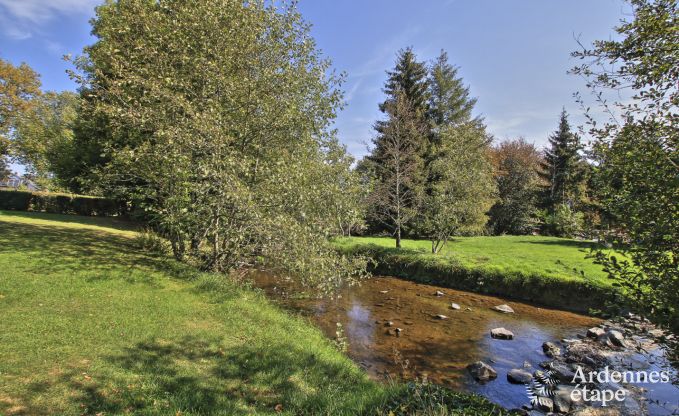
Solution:
<path fill-rule="evenodd" d="M 294 296 L 297 291 L 289 281 L 265 273 L 253 274 L 253 280 L 271 298 L 308 316 L 330 338 L 335 338 L 340 323 L 348 355 L 372 377 L 426 377 L 455 390 L 479 393 L 506 408 L 529 402 L 525 386 L 507 381 L 509 370 L 522 368 L 525 362 L 539 368 L 539 363 L 547 360 L 543 342 L 575 338 L 600 322 L 570 312 L 392 277 L 367 280 L 332 300 L 300 299 Z M 437 296 L 437 291 L 443 295 Z M 460 309 L 454 310 L 452 303 Z M 492 309 L 500 304 L 508 304 L 515 313 Z M 498 327 L 512 331 L 514 339 L 491 338 L 490 330 Z M 481 384 L 469 376 L 466 366 L 478 360 L 495 368 L 497 380 Z M 661 396 L 668 393 L 673 395 L 666 392 Z"/>

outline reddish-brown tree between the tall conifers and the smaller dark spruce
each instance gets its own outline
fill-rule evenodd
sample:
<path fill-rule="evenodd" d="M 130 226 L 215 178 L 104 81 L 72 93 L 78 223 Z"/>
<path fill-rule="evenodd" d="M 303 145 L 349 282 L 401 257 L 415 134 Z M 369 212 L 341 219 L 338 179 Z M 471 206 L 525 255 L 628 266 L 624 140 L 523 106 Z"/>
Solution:
<path fill-rule="evenodd" d="M 492 151 L 498 201 L 489 226 L 495 234 L 528 234 L 537 225 L 542 157 L 531 143 L 516 139 Z"/>

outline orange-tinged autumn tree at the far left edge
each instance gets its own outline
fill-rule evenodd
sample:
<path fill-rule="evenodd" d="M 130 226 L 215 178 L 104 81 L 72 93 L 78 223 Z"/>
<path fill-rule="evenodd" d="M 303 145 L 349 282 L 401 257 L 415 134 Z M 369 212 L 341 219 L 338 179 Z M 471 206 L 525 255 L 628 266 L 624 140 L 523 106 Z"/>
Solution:
<path fill-rule="evenodd" d="M 31 67 L 0 58 L 0 178 L 10 174 L 8 158 L 16 124 L 38 95 L 40 78 Z"/>

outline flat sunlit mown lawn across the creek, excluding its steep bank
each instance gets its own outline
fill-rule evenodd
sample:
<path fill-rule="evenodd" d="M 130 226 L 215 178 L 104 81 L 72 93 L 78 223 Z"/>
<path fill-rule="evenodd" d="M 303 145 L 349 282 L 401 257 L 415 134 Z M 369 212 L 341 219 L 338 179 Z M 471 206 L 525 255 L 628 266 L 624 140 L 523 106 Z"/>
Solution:
<path fill-rule="evenodd" d="M 335 241 L 345 250 L 375 245 L 392 248 L 393 238 L 348 237 Z M 495 274 L 525 273 L 544 276 L 547 279 L 588 281 L 602 287 L 610 287 L 602 267 L 587 258 L 597 244 L 557 237 L 543 236 L 494 236 L 455 237 L 438 254 L 431 254 L 431 242 L 403 240 L 401 252 L 407 257 L 449 261 L 462 268 Z M 392 250 L 390 250 L 392 251 Z"/>

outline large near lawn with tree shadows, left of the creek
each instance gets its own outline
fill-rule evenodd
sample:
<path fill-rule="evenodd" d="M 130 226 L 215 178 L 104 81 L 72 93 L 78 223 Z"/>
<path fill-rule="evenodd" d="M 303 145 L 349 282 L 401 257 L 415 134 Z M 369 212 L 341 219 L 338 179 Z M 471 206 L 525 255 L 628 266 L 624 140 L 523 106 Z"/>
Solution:
<path fill-rule="evenodd" d="M 0 415 L 416 406 L 405 386 L 369 380 L 305 319 L 223 276 L 140 252 L 133 227 L 114 219 L 0 211 L 0 316 Z M 450 414 L 499 412 L 476 396 L 428 400 Z"/>

